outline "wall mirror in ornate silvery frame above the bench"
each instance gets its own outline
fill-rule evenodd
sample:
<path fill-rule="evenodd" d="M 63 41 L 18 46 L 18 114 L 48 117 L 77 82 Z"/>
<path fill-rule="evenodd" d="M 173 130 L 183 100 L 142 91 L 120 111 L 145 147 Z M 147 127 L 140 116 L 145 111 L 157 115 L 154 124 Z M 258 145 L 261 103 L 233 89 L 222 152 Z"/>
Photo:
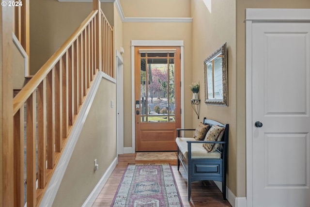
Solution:
<path fill-rule="evenodd" d="M 204 60 L 206 104 L 228 106 L 226 43 Z"/>

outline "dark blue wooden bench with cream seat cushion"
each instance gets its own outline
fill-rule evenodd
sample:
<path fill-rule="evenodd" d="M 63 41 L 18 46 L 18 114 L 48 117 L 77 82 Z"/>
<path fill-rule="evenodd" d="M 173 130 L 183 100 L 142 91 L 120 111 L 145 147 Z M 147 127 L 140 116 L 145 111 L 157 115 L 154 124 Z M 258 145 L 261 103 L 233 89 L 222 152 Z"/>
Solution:
<path fill-rule="evenodd" d="M 224 127 L 224 134 L 221 141 L 197 141 L 194 138 L 182 138 L 180 131 L 195 130 L 177 128 L 176 143 L 178 145 L 178 170 L 180 163 L 187 176 L 188 201 L 191 196 L 191 183 L 200 180 L 214 180 L 222 182 L 223 199 L 226 200 L 226 165 L 227 165 L 227 147 L 228 147 L 228 128 L 229 125 L 223 125 L 217 121 L 203 119 L 204 125 Z M 208 130 L 209 130 L 208 129 Z M 203 143 L 217 143 L 215 152 L 208 152 Z"/>

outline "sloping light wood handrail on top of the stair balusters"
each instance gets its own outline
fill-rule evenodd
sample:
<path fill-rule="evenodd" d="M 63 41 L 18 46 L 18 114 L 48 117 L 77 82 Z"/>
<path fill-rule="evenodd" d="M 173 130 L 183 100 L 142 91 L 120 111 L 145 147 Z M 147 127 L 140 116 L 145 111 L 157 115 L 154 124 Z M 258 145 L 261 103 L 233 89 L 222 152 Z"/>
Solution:
<path fill-rule="evenodd" d="M 59 61 L 62 55 L 70 48 L 72 43 L 77 39 L 79 34 L 91 22 L 98 10 L 93 10 L 89 16 L 81 23 L 78 29 L 72 33 L 68 40 L 48 59 L 48 61 L 38 70 L 31 80 L 21 89 L 13 99 L 13 114 L 22 107 L 31 93 L 38 87 L 42 80 L 47 76 L 52 67 Z"/>

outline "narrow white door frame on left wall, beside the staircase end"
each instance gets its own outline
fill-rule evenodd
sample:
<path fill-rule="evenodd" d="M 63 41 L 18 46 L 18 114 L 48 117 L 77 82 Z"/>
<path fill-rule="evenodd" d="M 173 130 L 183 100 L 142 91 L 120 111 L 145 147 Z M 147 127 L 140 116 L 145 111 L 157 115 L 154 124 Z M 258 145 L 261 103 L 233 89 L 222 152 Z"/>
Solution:
<path fill-rule="evenodd" d="M 124 154 L 124 61 L 122 54 L 116 50 L 116 149 L 117 154 Z"/>

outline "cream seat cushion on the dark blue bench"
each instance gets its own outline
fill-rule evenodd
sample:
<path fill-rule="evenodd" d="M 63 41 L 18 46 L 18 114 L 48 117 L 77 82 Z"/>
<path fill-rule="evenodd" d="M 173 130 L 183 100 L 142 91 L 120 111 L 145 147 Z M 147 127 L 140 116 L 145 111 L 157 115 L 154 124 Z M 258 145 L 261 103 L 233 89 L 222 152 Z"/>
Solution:
<path fill-rule="evenodd" d="M 177 143 L 179 149 L 181 150 L 183 156 L 187 159 L 187 143 L 186 141 L 197 141 L 194 138 L 177 137 L 175 142 Z M 220 159 L 221 153 L 218 151 L 207 152 L 207 150 L 202 146 L 202 143 L 192 143 L 192 159 Z"/>

